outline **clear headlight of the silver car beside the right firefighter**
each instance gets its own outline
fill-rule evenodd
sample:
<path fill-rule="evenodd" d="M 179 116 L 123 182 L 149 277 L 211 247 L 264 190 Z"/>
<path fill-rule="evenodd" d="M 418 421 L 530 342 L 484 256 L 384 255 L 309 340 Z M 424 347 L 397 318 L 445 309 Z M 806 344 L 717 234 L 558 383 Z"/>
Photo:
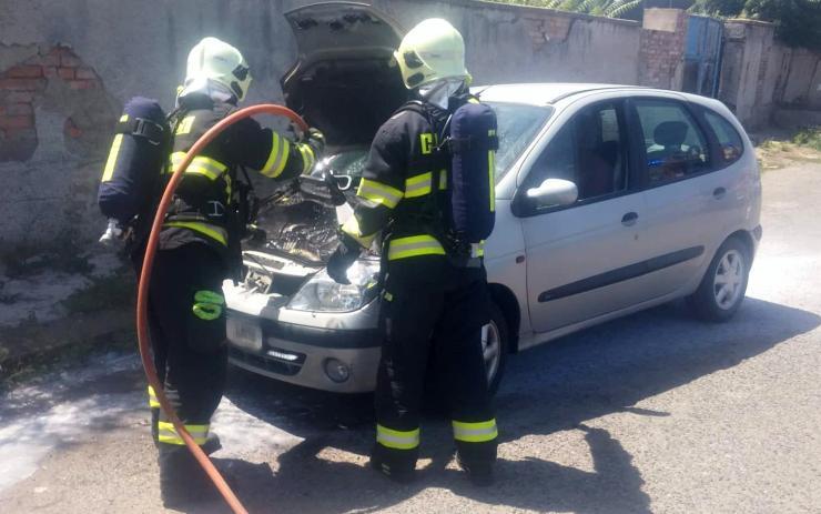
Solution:
<path fill-rule="evenodd" d="M 378 274 L 377 260 L 354 262 L 347 270 L 349 284 L 337 284 L 322 270 L 296 292 L 287 306 L 295 311 L 356 311 L 376 296 Z"/>

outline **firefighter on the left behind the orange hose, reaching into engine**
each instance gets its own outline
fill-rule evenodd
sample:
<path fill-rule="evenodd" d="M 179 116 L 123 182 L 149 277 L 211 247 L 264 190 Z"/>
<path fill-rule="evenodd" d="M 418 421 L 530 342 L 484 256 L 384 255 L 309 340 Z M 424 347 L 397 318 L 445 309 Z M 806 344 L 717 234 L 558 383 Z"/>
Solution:
<path fill-rule="evenodd" d="M 166 177 L 207 129 L 236 109 L 250 83 L 239 50 L 215 38 L 194 46 L 172 115 Z M 249 221 L 247 189 L 237 169 L 247 167 L 274 180 L 293 179 L 311 170 L 323 147 L 324 138 L 315 129 L 304 142 L 294 142 L 246 118 L 194 158 L 169 210 L 149 298 L 154 363 L 180 420 L 206 452 L 220 447 L 209 425 L 222 399 L 227 364 L 222 282 L 235 276 L 242 264 L 240 238 Z M 163 503 L 172 507 L 213 497 L 207 477 L 159 409 L 151 387 L 149 401 Z"/>

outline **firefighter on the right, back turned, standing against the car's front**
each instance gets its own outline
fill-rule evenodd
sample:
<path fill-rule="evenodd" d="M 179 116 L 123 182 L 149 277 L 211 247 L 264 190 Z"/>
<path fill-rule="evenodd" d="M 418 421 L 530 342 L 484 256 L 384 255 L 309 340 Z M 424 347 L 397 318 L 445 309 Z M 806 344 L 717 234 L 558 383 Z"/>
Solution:
<path fill-rule="evenodd" d="M 328 274 L 345 283 L 361 250 L 383 236 L 384 339 L 371 465 L 397 482 L 414 476 L 429 362 L 433 373 L 447 377 L 457 461 L 468 478 L 491 483 L 496 460 L 497 427 L 482 351 L 482 329 L 489 322 L 483 251 L 450 234 L 452 159 L 439 141 L 450 113 L 476 102 L 467 94 L 464 56 L 462 34 L 442 19 L 423 21 L 403 39 L 395 58 L 417 101 L 378 130 L 359 201 L 328 262 Z M 493 177 L 487 152 L 484 165 L 476 177 L 487 181 L 488 173 Z M 478 199 L 482 205 L 493 205 L 487 196 Z"/>

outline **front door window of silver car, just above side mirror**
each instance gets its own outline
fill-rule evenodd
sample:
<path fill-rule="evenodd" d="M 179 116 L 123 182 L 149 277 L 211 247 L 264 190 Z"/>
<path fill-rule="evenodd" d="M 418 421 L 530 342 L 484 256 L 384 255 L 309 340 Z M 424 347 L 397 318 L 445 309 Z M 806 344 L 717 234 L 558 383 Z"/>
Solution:
<path fill-rule="evenodd" d="M 604 102 L 575 114 L 534 163 L 528 187 L 546 179 L 569 180 L 578 188 L 578 201 L 625 190 L 628 160 L 621 112 L 621 102 Z"/>

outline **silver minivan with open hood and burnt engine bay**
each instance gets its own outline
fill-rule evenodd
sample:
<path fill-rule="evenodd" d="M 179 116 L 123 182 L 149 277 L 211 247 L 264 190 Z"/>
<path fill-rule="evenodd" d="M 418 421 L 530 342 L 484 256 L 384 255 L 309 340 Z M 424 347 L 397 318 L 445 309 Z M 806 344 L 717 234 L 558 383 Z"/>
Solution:
<path fill-rule="evenodd" d="M 286 13 L 300 60 L 290 107 L 325 131 L 314 177 L 274 191 L 244 282 L 226 282 L 231 362 L 335 392 L 375 386 L 381 337 L 375 251 L 331 280 L 324 262 L 351 215 L 371 138 L 404 99 L 396 24 L 366 6 Z M 761 239 L 761 182 L 744 130 L 720 102 L 586 83 L 476 88 L 498 117 L 496 229 L 483 331 L 495 390 L 506 357 L 642 309 L 687 298 L 702 319 L 741 305 Z"/>

